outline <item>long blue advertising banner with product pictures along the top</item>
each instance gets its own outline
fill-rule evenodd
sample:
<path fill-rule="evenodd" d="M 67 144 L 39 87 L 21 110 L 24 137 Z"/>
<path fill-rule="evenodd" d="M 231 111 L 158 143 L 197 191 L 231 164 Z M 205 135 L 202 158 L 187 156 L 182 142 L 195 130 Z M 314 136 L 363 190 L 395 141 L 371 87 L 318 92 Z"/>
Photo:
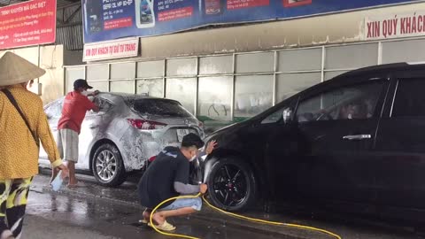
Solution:
<path fill-rule="evenodd" d="M 82 0 L 84 42 L 290 19 L 419 0 Z"/>

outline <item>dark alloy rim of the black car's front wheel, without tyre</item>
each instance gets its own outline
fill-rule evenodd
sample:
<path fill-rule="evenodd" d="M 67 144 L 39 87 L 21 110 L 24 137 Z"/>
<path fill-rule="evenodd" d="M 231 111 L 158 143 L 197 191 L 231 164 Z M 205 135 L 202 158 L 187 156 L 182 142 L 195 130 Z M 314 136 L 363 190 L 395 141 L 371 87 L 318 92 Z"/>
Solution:
<path fill-rule="evenodd" d="M 248 197 L 246 174 L 235 165 L 223 165 L 213 175 L 213 191 L 221 204 L 235 207 Z"/>

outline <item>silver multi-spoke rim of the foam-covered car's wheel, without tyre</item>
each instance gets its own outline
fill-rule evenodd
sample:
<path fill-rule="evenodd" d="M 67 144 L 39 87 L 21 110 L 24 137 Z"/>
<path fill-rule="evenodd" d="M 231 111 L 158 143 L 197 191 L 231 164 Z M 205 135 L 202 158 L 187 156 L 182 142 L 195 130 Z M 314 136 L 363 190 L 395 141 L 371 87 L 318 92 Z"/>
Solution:
<path fill-rule="evenodd" d="M 110 181 L 117 173 L 117 159 L 110 150 L 101 151 L 96 158 L 97 176 L 103 181 Z"/>

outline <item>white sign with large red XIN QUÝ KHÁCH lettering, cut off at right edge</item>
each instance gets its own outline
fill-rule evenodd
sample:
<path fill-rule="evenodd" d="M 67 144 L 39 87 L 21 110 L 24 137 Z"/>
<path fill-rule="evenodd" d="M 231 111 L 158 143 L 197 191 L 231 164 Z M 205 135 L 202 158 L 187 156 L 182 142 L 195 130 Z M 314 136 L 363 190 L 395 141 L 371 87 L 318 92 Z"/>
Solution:
<path fill-rule="evenodd" d="M 365 40 L 425 35 L 425 12 L 365 19 Z"/>

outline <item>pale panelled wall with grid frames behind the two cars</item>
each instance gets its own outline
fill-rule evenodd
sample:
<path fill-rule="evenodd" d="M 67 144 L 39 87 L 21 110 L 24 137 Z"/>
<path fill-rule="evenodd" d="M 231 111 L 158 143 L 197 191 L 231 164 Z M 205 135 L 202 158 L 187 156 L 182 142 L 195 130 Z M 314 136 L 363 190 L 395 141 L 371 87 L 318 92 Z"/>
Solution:
<path fill-rule="evenodd" d="M 246 120 L 321 81 L 363 66 L 420 62 L 424 39 L 334 44 L 66 66 L 66 91 L 86 78 L 105 92 L 178 100 L 206 127 Z M 347 58 L 347 56 L 350 56 Z"/>

